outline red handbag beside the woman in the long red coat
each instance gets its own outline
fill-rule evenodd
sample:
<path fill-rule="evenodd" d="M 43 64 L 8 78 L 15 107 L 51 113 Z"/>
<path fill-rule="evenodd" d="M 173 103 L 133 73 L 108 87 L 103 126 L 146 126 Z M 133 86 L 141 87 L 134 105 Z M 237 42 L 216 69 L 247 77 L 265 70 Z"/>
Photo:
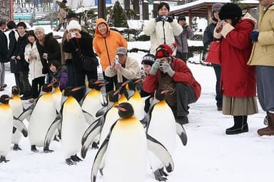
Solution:
<path fill-rule="evenodd" d="M 210 43 L 205 62 L 220 65 L 220 41 L 212 41 Z"/>

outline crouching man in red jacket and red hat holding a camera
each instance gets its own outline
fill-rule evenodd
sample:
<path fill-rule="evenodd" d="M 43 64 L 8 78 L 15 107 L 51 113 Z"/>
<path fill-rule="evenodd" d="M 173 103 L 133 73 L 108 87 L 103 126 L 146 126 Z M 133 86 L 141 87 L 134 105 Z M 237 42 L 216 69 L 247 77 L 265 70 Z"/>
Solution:
<path fill-rule="evenodd" d="M 171 56 L 176 43 L 161 44 L 156 49 L 156 60 L 143 81 L 143 90 L 154 92 L 158 88 L 169 90 L 166 102 L 171 107 L 176 122 L 188 123 L 188 104 L 196 102 L 201 95 L 201 85 L 181 59 Z"/>

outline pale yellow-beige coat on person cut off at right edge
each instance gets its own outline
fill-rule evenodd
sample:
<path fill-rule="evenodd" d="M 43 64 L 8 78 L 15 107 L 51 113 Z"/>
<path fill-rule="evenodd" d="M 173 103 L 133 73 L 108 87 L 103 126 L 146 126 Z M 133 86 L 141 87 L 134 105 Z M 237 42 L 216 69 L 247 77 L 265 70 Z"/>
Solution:
<path fill-rule="evenodd" d="M 248 65 L 274 66 L 274 6 L 263 14 L 260 6 L 258 42 L 253 44 Z"/>

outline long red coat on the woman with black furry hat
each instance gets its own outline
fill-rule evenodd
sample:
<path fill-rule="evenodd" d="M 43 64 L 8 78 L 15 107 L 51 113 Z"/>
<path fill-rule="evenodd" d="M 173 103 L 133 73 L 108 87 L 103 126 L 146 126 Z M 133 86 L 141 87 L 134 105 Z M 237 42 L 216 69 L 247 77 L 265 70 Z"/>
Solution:
<path fill-rule="evenodd" d="M 220 44 L 222 60 L 220 88 L 226 96 L 254 97 L 256 95 L 255 66 L 247 65 L 252 50 L 249 35 L 253 28 L 252 20 L 243 19 L 235 27 L 228 26 L 228 31 L 225 36 L 223 35 L 225 38 Z"/>

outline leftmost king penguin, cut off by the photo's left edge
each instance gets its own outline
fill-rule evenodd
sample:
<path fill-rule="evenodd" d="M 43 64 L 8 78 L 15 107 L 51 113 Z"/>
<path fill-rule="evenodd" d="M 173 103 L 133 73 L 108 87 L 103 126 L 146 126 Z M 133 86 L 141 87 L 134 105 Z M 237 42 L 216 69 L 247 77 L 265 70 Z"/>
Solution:
<path fill-rule="evenodd" d="M 0 163 L 1 162 L 7 162 L 9 160 L 6 160 L 6 155 L 9 153 L 10 146 L 11 146 L 11 135 L 13 133 L 13 125 L 15 125 L 16 130 L 20 130 L 24 137 L 27 136 L 26 128 L 24 127 L 24 124 L 20 121 L 14 121 L 14 114 L 12 113 L 12 109 L 9 106 L 9 100 L 11 100 L 11 97 L 9 95 L 1 95 L 0 97 Z M 19 126 L 19 125 L 21 126 Z M 15 128 L 14 128 L 15 129 Z"/>

